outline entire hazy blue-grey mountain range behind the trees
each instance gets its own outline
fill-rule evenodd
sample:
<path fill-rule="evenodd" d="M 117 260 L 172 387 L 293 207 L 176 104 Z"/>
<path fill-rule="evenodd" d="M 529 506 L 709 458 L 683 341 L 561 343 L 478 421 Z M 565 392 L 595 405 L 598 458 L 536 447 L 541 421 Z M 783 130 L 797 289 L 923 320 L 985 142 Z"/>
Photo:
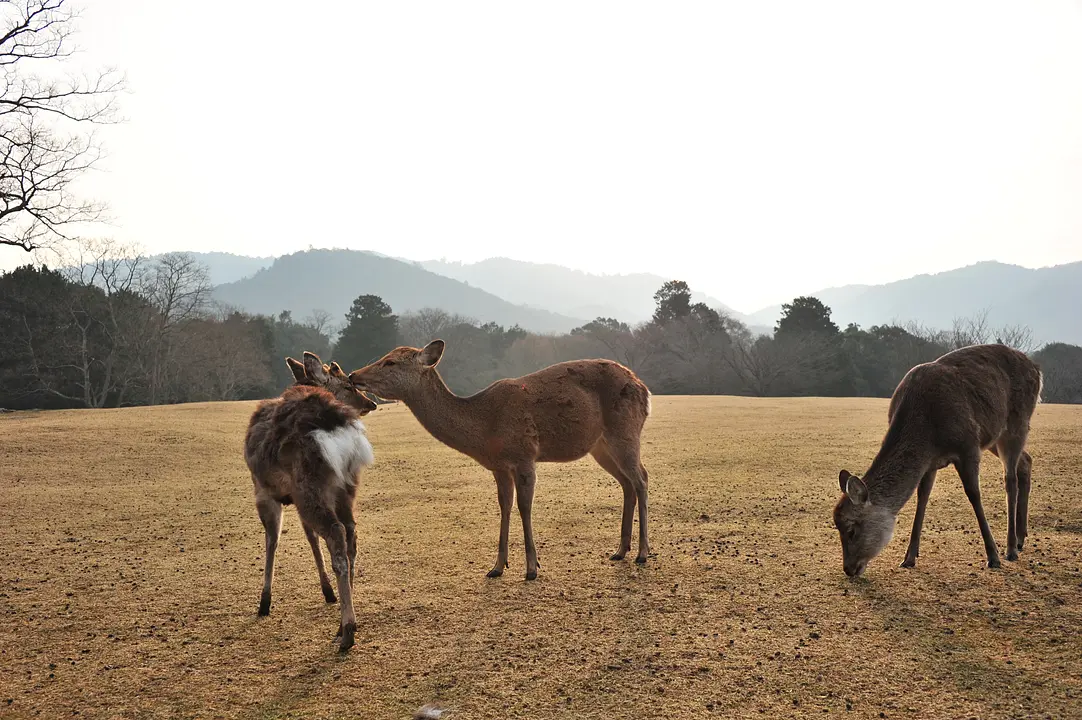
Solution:
<path fill-rule="evenodd" d="M 464 264 L 359 250 L 308 250 L 276 259 L 195 254 L 221 283 L 215 297 L 249 312 L 291 310 L 294 317 L 304 317 L 321 309 L 342 317 L 354 298 L 372 293 L 398 313 L 437 306 L 536 332 L 565 332 L 597 316 L 644 322 L 654 312 L 654 292 L 671 279 L 649 273 L 594 275 L 505 258 Z M 1038 270 L 979 262 L 886 285 L 796 294 L 822 300 L 843 328 L 909 320 L 949 328 L 954 318 L 987 311 L 994 327 L 1026 325 L 1039 342 L 1082 344 L 1082 262 Z M 780 305 L 742 314 L 716 298 L 697 292 L 694 299 L 761 332 L 769 332 L 781 314 Z"/>

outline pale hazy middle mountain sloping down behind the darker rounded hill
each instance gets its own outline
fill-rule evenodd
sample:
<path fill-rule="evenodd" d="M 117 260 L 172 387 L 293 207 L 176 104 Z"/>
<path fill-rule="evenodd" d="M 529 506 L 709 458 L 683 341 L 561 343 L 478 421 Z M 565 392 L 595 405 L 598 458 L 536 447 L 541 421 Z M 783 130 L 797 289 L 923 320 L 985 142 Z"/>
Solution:
<path fill-rule="evenodd" d="M 593 275 L 562 265 L 539 264 L 491 258 L 475 263 L 428 260 L 426 270 L 469 283 L 510 302 L 547 310 L 572 317 L 615 317 L 635 325 L 654 315 L 654 293 L 671 277 L 650 273 Z M 743 319 L 721 300 L 701 292 L 694 302 L 704 302 Z"/>

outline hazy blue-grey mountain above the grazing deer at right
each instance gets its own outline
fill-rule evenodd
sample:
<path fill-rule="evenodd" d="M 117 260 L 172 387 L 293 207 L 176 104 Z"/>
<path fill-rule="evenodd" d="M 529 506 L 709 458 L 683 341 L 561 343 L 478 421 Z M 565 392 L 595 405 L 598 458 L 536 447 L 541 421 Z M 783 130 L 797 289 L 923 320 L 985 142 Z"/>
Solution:
<path fill-rule="evenodd" d="M 894 320 L 950 328 L 955 317 L 987 310 L 993 327 L 1026 325 L 1041 343 L 1082 343 L 1082 262 L 1038 270 L 979 262 L 887 285 L 847 285 L 802 294 L 829 305 L 842 328 Z M 780 305 L 774 305 L 749 318 L 773 326 L 780 314 Z"/>

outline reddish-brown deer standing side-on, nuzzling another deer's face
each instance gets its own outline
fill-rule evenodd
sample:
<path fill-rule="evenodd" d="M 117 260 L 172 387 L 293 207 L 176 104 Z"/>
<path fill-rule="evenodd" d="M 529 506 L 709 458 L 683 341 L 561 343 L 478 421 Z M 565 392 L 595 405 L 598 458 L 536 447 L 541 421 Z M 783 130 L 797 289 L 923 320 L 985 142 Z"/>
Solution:
<path fill-rule="evenodd" d="M 349 381 L 385 400 L 401 401 L 436 440 L 469 455 L 496 476 L 500 500 L 500 549 L 489 577 L 507 566 L 511 502 L 517 495 L 526 546 L 526 579 L 537 578 L 530 511 L 538 462 L 569 462 L 588 453 L 623 488 L 620 549 L 631 549 L 638 503 L 638 557 L 649 554 L 647 473 L 639 461 L 639 436 L 650 414 L 650 392 L 619 363 L 584 359 L 558 363 L 520 378 L 498 380 L 460 397 L 436 370 L 443 340 L 423 350 L 396 348 L 354 370 Z"/>

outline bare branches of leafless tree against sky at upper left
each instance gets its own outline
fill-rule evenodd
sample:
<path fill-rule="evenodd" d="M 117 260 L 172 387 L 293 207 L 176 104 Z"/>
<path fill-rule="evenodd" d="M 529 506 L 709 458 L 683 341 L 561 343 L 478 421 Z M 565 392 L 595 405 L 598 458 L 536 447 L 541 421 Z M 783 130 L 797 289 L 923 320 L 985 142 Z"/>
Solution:
<path fill-rule="evenodd" d="M 117 120 L 123 78 L 63 77 L 75 19 L 67 0 L 0 0 L 0 245 L 47 247 L 104 210 L 72 183 L 102 155 L 84 128 Z"/>

